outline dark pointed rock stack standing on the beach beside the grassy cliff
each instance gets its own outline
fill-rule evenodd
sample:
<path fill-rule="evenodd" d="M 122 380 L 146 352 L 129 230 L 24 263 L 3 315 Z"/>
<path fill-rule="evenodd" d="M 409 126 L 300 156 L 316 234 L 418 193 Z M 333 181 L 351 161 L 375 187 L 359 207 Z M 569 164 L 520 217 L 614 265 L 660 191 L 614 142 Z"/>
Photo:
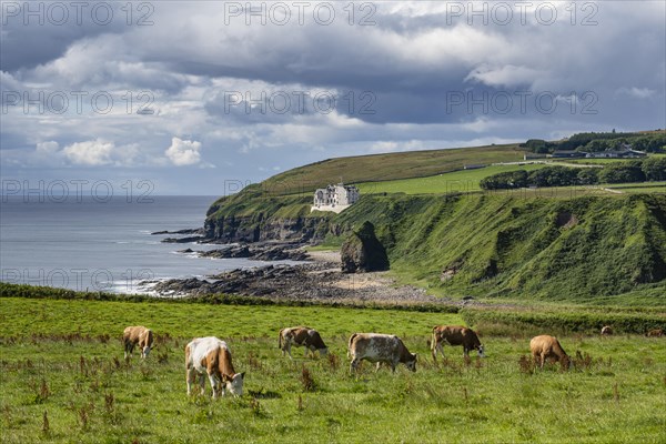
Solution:
<path fill-rule="evenodd" d="M 374 225 L 365 221 L 342 244 L 342 271 L 356 273 L 389 270 L 386 249 L 375 235 Z"/>

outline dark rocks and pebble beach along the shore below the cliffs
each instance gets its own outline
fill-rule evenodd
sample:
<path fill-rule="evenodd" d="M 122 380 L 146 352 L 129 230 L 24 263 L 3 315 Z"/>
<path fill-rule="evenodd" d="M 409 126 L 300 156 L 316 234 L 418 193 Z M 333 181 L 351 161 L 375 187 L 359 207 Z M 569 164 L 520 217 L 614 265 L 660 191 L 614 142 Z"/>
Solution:
<path fill-rule="evenodd" d="M 178 234 L 182 236 L 179 239 L 191 239 L 191 234 L 195 232 L 182 230 L 155 234 Z M 290 260 L 297 263 L 238 269 L 205 279 L 144 281 L 140 286 L 165 297 L 198 297 L 224 293 L 273 301 L 326 304 L 452 304 L 451 300 L 428 295 L 423 289 L 397 285 L 386 272 L 343 273 L 340 252 L 307 252 L 303 243 L 238 243 L 215 250 L 196 251 L 189 248 L 179 252 L 195 253 L 201 258 Z"/>

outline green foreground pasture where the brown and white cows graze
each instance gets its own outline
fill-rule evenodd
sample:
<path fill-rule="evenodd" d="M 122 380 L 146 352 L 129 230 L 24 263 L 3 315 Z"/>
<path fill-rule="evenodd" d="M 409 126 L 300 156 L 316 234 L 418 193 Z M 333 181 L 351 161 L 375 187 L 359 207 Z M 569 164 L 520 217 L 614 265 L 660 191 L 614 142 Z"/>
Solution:
<path fill-rule="evenodd" d="M 576 362 L 534 372 L 528 336 L 481 334 L 485 360 L 427 340 L 457 314 L 395 310 L 160 302 L 0 300 L 2 442 L 505 443 L 666 441 L 666 346 L 637 335 L 559 336 Z M 147 361 L 122 360 L 125 325 L 154 330 Z M 310 324 L 331 357 L 278 350 L 281 326 Z M 416 373 L 365 364 L 349 374 L 356 331 L 395 333 L 420 355 Z M 245 371 L 242 398 L 185 395 L 183 347 L 228 341 Z M 578 356 L 576 357 L 578 352 Z"/>

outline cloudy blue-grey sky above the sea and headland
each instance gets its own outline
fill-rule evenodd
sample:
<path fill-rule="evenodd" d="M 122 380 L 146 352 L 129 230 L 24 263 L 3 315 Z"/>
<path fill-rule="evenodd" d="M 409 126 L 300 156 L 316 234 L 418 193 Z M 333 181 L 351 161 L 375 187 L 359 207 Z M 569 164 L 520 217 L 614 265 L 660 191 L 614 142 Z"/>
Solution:
<path fill-rule="evenodd" d="M 666 128 L 663 0 L 245 4 L 2 1 L 3 191 Z"/>

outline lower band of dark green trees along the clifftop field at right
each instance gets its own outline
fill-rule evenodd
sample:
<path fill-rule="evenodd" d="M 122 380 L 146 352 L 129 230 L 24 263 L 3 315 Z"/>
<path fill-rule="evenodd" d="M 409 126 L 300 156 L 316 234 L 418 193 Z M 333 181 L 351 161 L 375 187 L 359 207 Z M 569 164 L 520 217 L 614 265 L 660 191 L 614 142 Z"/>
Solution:
<path fill-rule="evenodd" d="M 534 171 L 516 170 L 481 180 L 483 190 L 511 190 L 527 186 L 595 185 L 666 180 L 666 158 L 617 162 L 601 168 L 545 167 Z"/>

